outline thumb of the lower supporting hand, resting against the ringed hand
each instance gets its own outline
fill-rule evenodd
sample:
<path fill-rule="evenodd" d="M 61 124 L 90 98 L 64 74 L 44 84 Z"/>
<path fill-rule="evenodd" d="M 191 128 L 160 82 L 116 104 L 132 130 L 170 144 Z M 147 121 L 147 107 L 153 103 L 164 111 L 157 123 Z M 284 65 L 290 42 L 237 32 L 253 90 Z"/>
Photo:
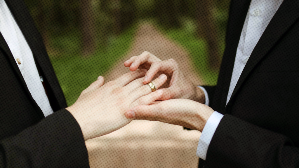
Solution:
<path fill-rule="evenodd" d="M 158 117 L 158 104 L 136 106 L 125 113 L 127 118 L 156 121 Z"/>

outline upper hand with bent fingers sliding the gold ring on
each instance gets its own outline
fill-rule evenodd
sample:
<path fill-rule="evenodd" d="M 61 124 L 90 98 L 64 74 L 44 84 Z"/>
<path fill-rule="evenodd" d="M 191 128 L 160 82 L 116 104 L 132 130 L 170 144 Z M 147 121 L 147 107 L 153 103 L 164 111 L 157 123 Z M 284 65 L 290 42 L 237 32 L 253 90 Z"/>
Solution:
<path fill-rule="evenodd" d="M 139 56 L 133 56 L 126 62 L 126 67 L 130 71 L 136 71 L 138 68 L 148 69 L 145 77 L 144 84 L 152 80 L 155 75 L 161 73 L 166 74 L 171 80 L 167 83 L 167 88 L 162 88 L 163 95 L 159 100 L 168 100 L 175 98 L 191 99 L 200 103 L 205 103 L 205 94 L 202 89 L 192 84 L 190 80 L 184 77 L 183 72 L 180 70 L 179 65 L 174 59 L 161 61 L 153 54 L 144 51 Z"/>

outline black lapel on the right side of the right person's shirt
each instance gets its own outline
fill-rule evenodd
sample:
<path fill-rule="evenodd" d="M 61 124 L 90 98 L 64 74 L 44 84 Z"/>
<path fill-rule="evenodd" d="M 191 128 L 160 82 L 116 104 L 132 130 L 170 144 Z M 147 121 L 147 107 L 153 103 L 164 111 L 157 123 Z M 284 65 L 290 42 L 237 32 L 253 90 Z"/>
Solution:
<path fill-rule="evenodd" d="M 240 75 L 237 85 L 234 88 L 229 103 L 231 100 L 233 100 L 242 83 L 244 83 L 246 77 L 250 74 L 257 63 L 269 52 L 269 50 L 292 26 L 298 17 L 299 1 L 284 0 L 252 51 L 251 56 L 249 57 L 248 62 L 246 63 L 242 74 Z"/>

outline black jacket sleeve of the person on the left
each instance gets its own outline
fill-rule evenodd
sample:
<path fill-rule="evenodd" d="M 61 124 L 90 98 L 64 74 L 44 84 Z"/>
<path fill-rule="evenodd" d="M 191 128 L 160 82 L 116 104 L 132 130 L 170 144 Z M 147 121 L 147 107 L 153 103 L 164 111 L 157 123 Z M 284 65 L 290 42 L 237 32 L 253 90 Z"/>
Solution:
<path fill-rule="evenodd" d="M 0 168 L 89 167 L 79 124 L 66 109 L 0 141 Z"/>

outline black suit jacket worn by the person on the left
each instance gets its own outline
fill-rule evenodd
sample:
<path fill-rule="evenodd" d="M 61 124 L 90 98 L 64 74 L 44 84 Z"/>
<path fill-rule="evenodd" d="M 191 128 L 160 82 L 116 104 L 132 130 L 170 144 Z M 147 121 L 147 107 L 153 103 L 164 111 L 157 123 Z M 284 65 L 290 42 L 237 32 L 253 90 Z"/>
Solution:
<path fill-rule="evenodd" d="M 0 167 L 89 167 L 80 126 L 64 109 L 64 95 L 24 2 L 6 3 L 44 78 L 54 114 L 44 117 L 0 34 Z"/>

